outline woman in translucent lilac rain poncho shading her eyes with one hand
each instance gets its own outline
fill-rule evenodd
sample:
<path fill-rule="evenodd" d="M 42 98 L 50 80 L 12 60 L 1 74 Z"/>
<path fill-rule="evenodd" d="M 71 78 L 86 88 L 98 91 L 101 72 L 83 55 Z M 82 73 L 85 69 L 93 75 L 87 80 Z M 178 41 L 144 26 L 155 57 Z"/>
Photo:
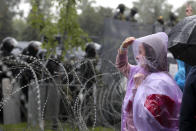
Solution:
<path fill-rule="evenodd" d="M 116 58 L 116 67 L 127 77 L 121 131 L 176 131 L 182 92 L 167 70 L 168 37 L 160 32 L 139 39 L 127 38 Z M 128 63 L 133 44 L 138 65 Z"/>

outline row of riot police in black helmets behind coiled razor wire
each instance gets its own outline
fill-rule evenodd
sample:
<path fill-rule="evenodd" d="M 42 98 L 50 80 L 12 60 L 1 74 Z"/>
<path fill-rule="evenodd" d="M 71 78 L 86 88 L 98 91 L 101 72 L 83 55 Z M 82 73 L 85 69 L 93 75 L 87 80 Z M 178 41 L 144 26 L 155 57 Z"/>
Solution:
<path fill-rule="evenodd" d="M 18 45 L 19 42 L 12 37 L 6 37 L 2 40 L 0 45 L 0 100 L 3 102 L 2 80 L 4 78 L 16 79 L 16 82 L 21 88 L 20 105 L 22 121 L 27 121 L 28 119 L 28 91 L 29 88 L 31 88 L 29 85 L 32 80 L 34 80 L 35 76 L 30 68 L 14 63 L 14 60 L 21 61 L 31 66 L 35 71 L 38 81 L 49 78 L 44 80 L 44 82 L 57 83 L 57 81 L 60 81 L 59 83 L 65 85 L 69 83 L 67 87 L 71 92 L 70 95 L 72 97 L 71 99 L 73 100 L 72 102 L 74 102 L 76 99 L 80 89 L 83 87 L 82 85 L 85 85 L 85 90 L 88 90 L 95 82 L 95 78 L 93 78 L 93 76 L 96 73 L 95 66 L 97 64 L 96 43 L 92 42 L 86 45 L 84 52 L 85 55 L 82 59 L 77 60 L 77 62 L 80 63 L 77 64 L 77 66 L 74 66 L 76 59 L 73 57 L 65 58 L 63 61 L 61 57 L 57 55 L 57 53 L 55 55 L 49 54 L 49 56 L 47 56 L 47 50 L 42 48 L 42 43 L 39 41 L 28 42 L 28 46 L 22 50 L 20 49 L 21 51 L 16 53 L 16 49 L 19 48 Z M 75 76 L 74 72 L 72 72 L 73 70 L 76 72 L 77 76 Z M 62 72 L 66 72 L 67 74 Z M 0 122 L 3 123 L 3 111 L 0 113 Z"/>

